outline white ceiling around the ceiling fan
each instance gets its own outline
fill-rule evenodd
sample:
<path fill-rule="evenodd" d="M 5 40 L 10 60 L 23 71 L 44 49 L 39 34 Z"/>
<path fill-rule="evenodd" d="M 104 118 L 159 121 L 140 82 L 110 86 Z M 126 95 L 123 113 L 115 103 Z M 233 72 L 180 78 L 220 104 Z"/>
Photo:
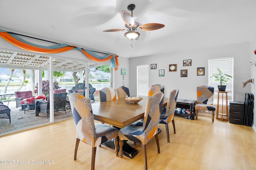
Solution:
<path fill-rule="evenodd" d="M 135 4 L 140 31 L 131 42 L 121 11 Z M 168 54 L 251 41 L 256 32 L 256 0 L 0 0 L 0 29 L 122 57 Z M 131 46 L 133 45 L 133 47 Z"/>

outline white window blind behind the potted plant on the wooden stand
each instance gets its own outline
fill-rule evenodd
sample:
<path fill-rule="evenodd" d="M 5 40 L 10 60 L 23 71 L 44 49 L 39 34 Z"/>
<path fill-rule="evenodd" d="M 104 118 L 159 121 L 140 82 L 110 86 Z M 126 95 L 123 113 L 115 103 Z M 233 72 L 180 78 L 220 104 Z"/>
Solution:
<path fill-rule="evenodd" d="M 233 57 L 229 58 L 219 58 L 219 59 L 209 59 L 209 86 L 214 87 L 214 105 L 217 105 L 218 101 L 218 85 L 219 81 L 215 81 L 215 78 L 212 77 L 212 74 L 218 73 L 217 68 L 220 68 L 222 73 L 228 74 L 233 77 Z M 212 78 L 210 78 L 212 77 Z M 226 85 L 226 91 L 228 91 L 228 104 L 230 101 L 233 101 L 233 78 L 228 77 Z M 220 105 L 222 105 L 222 94 L 220 94 Z M 226 104 L 226 95 L 223 94 L 223 104 Z"/>

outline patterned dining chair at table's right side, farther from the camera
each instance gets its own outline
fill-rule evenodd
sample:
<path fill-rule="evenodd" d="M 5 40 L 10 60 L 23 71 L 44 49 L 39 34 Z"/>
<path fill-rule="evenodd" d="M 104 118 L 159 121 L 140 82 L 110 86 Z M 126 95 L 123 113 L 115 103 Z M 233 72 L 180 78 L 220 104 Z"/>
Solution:
<path fill-rule="evenodd" d="M 170 142 L 169 127 L 168 127 L 168 124 L 170 122 L 172 122 L 174 133 L 176 133 L 175 123 L 174 123 L 174 112 L 176 108 L 178 94 L 179 94 L 179 89 L 174 89 L 170 92 L 169 98 L 167 101 L 166 112 L 165 113 L 161 112 L 160 114 L 159 123 L 165 124 L 168 143 Z"/>

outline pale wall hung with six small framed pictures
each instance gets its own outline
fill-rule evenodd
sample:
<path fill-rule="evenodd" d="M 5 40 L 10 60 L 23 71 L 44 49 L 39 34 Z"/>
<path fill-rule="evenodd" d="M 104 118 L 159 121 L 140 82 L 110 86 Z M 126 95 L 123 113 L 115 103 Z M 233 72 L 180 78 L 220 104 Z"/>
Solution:
<path fill-rule="evenodd" d="M 255 46 L 256 48 L 256 46 Z M 196 100 L 196 87 L 208 85 L 208 59 L 234 57 L 234 101 L 244 102 L 250 84 L 243 88 L 242 82 L 250 79 L 250 43 L 239 43 L 183 51 L 159 56 L 130 59 L 130 95 L 136 95 L 136 67 L 142 64 L 157 64 L 156 70 L 149 70 L 149 86 L 164 85 L 165 96 L 174 88 L 179 88 L 178 98 Z M 256 57 L 256 56 L 255 56 Z M 191 59 L 191 66 L 183 66 L 183 60 Z M 255 59 L 256 60 L 256 59 Z M 176 72 L 169 72 L 169 64 L 177 64 Z M 197 67 L 205 67 L 205 76 L 197 76 Z M 158 70 L 164 69 L 165 75 L 158 76 Z M 180 77 L 180 70 L 187 69 L 188 77 Z"/>

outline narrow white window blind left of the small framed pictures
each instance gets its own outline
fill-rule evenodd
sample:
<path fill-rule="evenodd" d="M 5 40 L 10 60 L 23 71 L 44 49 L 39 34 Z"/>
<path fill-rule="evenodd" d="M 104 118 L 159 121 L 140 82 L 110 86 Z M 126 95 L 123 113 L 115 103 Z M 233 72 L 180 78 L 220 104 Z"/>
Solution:
<path fill-rule="evenodd" d="M 137 95 L 148 96 L 148 65 L 137 66 Z"/>

